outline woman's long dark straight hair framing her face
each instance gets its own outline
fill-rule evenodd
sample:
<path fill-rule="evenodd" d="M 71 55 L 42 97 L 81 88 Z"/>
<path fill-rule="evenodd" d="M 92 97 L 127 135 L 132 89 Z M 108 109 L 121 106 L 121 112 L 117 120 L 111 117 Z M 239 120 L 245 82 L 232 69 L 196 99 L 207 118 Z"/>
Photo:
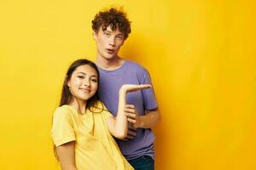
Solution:
<path fill-rule="evenodd" d="M 90 65 L 92 68 L 94 68 L 97 72 L 97 82 L 98 82 L 98 87 L 99 87 L 99 78 L 100 78 L 100 74 L 99 74 L 99 70 L 96 66 L 96 64 L 94 64 L 92 61 L 88 60 L 88 59 L 78 59 L 75 60 L 68 68 L 67 70 L 67 74 L 65 77 L 65 81 L 63 82 L 62 85 L 62 91 L 61 91 L 61 101 L 59 106 L 61 105 L 68 105 L 72 98 L 73 95 L 70 93 L 69 87 L 67 86 L 67 82 L 70 80 L 70 78 L 73 75 L 73 71 L 75 71 L 80 65 Z M 94 94 L 90 99 L 87 100 L 87 104 L 86 104 L 86 109 L 90 109 L 92 106 L 96 106 L 96 101 L 98 100 L 98 89 L 96 90 L 96 94 Z"/>

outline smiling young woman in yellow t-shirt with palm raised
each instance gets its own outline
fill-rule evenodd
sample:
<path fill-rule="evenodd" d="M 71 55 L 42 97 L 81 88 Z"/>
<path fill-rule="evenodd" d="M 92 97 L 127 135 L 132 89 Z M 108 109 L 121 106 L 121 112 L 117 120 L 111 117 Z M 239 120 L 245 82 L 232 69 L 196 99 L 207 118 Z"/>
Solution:
<path fill-rule="evenodd" d="M 126 116 L 136 116 L 135 106 L 125 105 L 125 95 L 150 85 L 123 85 L 116 117 L 97 99 L 98 86 L 99 72 L 93 62 L 79 59 L 70 65 L 51 129 L 62 170 L 133 169 L 113 137 L 124 139 L 128 127 Z"/>

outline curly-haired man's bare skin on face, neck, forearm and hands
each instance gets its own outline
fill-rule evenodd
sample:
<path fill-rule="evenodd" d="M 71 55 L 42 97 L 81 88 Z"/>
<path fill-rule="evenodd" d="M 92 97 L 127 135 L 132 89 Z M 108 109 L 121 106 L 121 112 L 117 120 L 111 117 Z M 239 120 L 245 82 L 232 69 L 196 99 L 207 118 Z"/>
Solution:
<path fill-rule="evenodd" d="M 124 59 L 119 57 L 119 49 L 125 42 L 124 34 L 117 28 L 115 31 L 110 26 L 107 27 L 106 31 L 94 31 L 93 37 L 96 41 L 96 65 L 104 70 L 115 70 L 124 63 Z M 109 53 L 108 49 L 113 49 Z M 129 128 L 128 135 L 125 140 L 134 138 L 137 134 L 136 129 L 139 128 L 152 128 L 158 122 L 160 122 L 160 111 L 159 109 L 148 110 L 146 115 L 139 116 L 137 111 L 133 113 L 126 113 L 127 121 L 133 124 L 133 127 Z"/>

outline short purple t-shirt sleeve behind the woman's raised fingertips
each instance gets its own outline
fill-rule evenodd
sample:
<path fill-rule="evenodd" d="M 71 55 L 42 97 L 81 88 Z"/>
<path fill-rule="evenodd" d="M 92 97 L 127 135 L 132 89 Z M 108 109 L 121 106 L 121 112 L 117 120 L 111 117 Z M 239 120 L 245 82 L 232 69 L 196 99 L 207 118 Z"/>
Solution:
<path fill-rule="evenodd" d="M 143 68 L 143 71 L 142 71 L 140 83 L 141 84 L 151 84 L 152 85 L 150 75 L 149 75 L 148 71 L 144 68 Z M 156 101 L 156 98 L 155 98 L 153 85 L 152 85 L 152 88 L 143 89 L 142 93 L 143 93 L 144 108 L 146 110 L 157 109 L 158 105 L 157 105 L 157 101 Z"/>

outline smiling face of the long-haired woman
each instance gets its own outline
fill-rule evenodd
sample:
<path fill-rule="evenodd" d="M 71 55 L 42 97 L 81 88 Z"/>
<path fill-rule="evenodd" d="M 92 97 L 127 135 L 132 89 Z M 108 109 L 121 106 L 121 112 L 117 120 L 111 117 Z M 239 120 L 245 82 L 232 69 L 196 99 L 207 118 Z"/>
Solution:
<path fill-rule="evenodd" d="M 75 99 L 87 101 L 98 88 L 98 75 L 96 70 L 90 65 L 80 65 L 73 71 L 71 78 L 67 82 L 70 93 Z"/>

